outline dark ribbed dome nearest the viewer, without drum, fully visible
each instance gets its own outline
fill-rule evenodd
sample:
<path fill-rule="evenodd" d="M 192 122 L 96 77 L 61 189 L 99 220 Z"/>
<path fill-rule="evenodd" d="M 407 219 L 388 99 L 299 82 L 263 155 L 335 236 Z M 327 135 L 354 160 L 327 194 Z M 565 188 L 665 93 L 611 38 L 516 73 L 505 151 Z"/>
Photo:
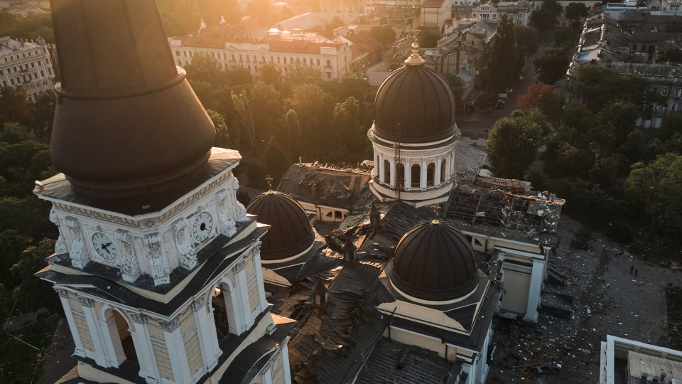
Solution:
<path fill-rule="evenodd" d="M 477 287 L 477 269 L 469 240 L 452 225 L 433 220 L 401 238 L 389 277 L 408 296 L 446 302 Z"/>

